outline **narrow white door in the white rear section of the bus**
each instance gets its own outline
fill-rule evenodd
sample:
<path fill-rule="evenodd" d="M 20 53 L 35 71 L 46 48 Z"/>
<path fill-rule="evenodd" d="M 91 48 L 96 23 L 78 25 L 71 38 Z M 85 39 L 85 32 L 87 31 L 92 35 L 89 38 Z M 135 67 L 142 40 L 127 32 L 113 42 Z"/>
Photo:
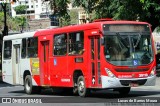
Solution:
<path fill-rule="evenodd" d="M 13 84 L 20 84 L 20 44 L 13 45 Z"/>

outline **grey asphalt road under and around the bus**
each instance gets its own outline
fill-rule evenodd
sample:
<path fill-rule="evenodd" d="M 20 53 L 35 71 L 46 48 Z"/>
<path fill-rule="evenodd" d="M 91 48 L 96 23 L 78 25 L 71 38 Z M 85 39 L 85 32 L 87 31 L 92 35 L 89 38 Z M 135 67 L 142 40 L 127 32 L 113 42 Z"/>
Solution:
<path fill-rule="evenodd" d="M 160 77 L 157 77 L 156 85 L 152 87 L 138 87 L 132 88 L 128 96 L 121 96 L 118 92 L 113 92 L 111 90 L 94 91 L 91 95 L 86 98 L 81 98 L 79 96 L 72 95 L 68 92 L 65 93 L 53 93 L 50 89 L 43 90 L 41 94 L 27 95 L 23 86 L 12 86 L 6 83 L 0 83 L 0 97 L 2 98 L 36 98 L 42 99 L 41 101 L 46 102 L 47 105 L 54 103 L 54 105 L 88 105 L 88 106 L 112 106 L 112 105 L 128 105 L 126 103 L 129 100 L 143 100 L 143 99 L 153 99 L 155 101 L 149 102 L 149 105 L 160 105 Z M 143 101 L 140 103 L 134 102 L 132 105 L 142 105 Z M 159 102 L 157 103 L 156 102 Z M 132 102 L 132 101 L 131 101 Z M 36 104 L 34 104 L 35 106 Z M 145 103 L 146 105 L 146 103 Z M 1 104 L 0 104 L 1 106 Z M 17 106 L 17 105 L 15 105 Z M 40 105 L 39 105 L 40 106 Z"/>

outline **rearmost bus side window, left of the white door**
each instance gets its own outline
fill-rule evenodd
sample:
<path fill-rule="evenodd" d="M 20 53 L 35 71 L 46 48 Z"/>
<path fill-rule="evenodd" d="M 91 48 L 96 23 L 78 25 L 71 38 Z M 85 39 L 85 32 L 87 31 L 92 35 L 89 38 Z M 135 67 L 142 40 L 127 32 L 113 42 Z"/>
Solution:
<path fill-rule="evenodd" d="M 11 59 L 12 41 L 4 41 L 4 59 Z"/>

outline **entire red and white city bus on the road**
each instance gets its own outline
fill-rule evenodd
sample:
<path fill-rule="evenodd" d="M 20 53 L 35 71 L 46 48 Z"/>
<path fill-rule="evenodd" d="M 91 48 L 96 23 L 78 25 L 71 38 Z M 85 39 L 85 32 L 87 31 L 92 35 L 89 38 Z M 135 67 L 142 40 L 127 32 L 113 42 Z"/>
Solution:
<path fill-rule="evenodd" d="M 27 94 L 44 87 L 90 90 L 154 86 L 156 59 L 150 24 L 93 23 L 5 36 L 3 81 L 24 85 Z"/>

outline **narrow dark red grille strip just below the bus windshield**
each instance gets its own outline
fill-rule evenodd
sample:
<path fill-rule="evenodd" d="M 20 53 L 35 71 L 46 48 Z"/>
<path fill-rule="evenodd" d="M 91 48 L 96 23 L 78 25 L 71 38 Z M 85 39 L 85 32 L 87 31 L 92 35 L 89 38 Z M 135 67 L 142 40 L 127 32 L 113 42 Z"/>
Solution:
<path fill-rule="evenodd" d="M 144 71 L 148 71 L 149 68 L 129 68 L 129 69 L 122 69 L 122 68 L 117 68 L 115 69 L 117 72 L 144 72 Z"/>

